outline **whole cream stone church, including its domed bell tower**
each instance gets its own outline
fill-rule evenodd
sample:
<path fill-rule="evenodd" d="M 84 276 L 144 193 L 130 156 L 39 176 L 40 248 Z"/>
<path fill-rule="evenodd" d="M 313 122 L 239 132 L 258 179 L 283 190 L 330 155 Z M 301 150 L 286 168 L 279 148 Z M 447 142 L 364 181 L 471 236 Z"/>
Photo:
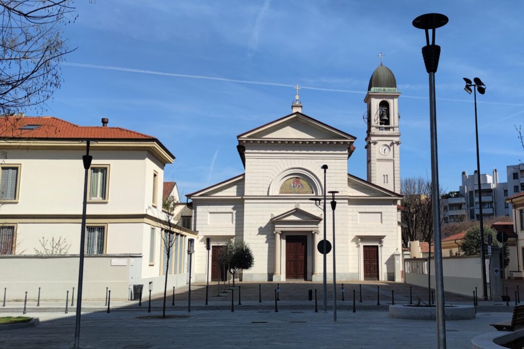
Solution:
<path fill-rule="evenodd" d="M 187 195 L 193 230 L 198 231 L 195 280 L 206 280 L 206 263 L 209 280 L 221 278 L 217 256 L 232 239 L 248 243 L 255 257 L 254 266 L 239 276 L 244 281 L 322 280 L 323 257 L 316 246 L 323 239 L 324 224 L 333 242 L 331 194 L 325 215 L 323 194 L 337 191 L 337 280 L 400 281 L 396 87 L 394 75 L 380 64 L 364 100 L 367 180 L 348 173 L 356 137 L 303 114 L 298 93 L 291 114 L 238 135 L 245 172 Z M 360 166 L 349 163 L 350 168 Z M 333 277 L 332 253 L 327 257 L 328 279 Z"/>

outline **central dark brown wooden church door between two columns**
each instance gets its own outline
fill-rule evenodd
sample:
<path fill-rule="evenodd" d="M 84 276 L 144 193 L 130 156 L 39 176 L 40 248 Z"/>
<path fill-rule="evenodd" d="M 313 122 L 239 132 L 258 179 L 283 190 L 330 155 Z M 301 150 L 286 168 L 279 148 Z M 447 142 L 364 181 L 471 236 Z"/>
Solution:
<path fill-rule="evenodd" d="M 286 279 L 307 278 L 308 237 L 305 235 L 286 236 Z"/>

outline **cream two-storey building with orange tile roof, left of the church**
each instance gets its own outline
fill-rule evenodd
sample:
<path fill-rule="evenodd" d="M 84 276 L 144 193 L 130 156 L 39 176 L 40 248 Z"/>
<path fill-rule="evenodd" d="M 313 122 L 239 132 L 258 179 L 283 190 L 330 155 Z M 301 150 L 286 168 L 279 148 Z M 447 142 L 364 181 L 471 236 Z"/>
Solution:
<path fill-rule="evenodd" d="M 93 156 L 88 177 L 84 297 L 126 299 L 135 284 L 147 290 L 185 285 L 190 228 L 174 235 L 171 261 L 161 231 L 165 195 L 178 199 L 163 169 L 174 156 L 152 136 L 119 127 L 78 126 L 56 117 L 0 117 L 0 288 L 7 299 L 64 298 L 77 287 L 84 185 L 82 156 Z M 189 213 L 187 213 L 189 211 Z M 185 213 L 184 213 L 185 212 Z M 176 206 L 176 220 L 191 215 Z M 188 226 L 186 224 L 186 226 Z M 190 227 L 190 223 L 189 223 Z M 59 243 L 58 243 L 59 241 Z M 147 291 L 146 291 L 147 292 Z"/>

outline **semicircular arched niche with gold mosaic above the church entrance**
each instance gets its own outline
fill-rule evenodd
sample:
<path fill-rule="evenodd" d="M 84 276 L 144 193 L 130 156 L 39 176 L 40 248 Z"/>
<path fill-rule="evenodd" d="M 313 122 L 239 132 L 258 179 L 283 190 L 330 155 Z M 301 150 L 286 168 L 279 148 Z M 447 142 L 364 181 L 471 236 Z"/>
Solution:
<path fill-rule="evenodd" d="M 269 195 L 319 195 L 320 180 L 303 168 L 290 168 L 281 172 L 270 184 Z"/>

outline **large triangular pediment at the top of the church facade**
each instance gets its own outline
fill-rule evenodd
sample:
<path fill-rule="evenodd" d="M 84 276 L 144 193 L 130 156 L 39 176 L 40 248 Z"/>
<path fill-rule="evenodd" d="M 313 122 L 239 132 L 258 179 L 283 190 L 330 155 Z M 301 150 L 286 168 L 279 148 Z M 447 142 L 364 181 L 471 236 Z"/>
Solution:
<path fill-rule="evenodd" d="M 239 139 L 311 139 L 354 141 L 356 137 L 302 113 L 293 113 L 238 136 Z"/>

